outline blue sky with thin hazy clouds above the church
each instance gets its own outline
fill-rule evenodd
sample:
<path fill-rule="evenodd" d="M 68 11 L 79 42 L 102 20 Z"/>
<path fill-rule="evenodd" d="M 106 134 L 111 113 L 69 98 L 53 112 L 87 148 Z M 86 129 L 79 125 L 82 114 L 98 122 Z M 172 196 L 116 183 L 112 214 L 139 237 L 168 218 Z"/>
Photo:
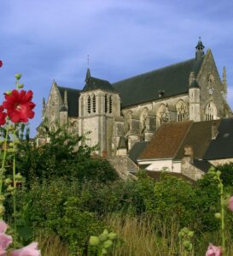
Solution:
<path fill-rule="evenodd" d="M 34 92 L 33 137 L 53 80 L 82 89 L 87 68 L 122 80 L 195 57 L 201 36 L 220 77 L 226 68 L 233 109 L 232 31 L 233 2 L 226 0 L 0 0 L 0 102 L 22 74 Z"/>

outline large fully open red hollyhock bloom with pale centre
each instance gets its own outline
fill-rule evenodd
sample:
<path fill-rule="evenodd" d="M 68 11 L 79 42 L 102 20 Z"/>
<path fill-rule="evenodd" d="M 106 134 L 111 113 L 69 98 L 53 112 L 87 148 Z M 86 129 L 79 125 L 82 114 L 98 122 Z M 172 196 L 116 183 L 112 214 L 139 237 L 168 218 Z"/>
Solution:
<path fill-rule="evenodd" d="M 28 122 L 28 118 L 34 117 L 32 111 L 35 104 L 32 102 L 32 91 L 20 92 L 13 90 L 10 94 L 5 93 L 6 101 L 3 102 L 3 107 L 7 110 L 7 114 L 12 122 Z"/>

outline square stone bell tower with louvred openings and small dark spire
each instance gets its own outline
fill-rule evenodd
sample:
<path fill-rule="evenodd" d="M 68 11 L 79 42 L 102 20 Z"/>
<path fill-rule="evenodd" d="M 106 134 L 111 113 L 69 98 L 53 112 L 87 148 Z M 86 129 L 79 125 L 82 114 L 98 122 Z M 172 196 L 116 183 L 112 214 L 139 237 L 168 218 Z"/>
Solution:
<path fill-rule="evenodd" d="M 120 116 L 119 93 L 108 80 L 90 75 L 87 69 L 85 85 L 79 96 L 79 134 L 90 146 L 98 146 L 99 155 L 111 155 L 114 118 Z"/>

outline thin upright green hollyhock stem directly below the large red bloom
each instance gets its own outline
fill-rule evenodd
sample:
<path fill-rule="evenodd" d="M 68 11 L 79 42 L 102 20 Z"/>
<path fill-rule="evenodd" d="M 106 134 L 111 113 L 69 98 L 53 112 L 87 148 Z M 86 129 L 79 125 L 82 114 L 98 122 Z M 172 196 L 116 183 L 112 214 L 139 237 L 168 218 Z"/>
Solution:
<path fill-rule="evenodd" d="M 14 190 L 13 190 L 13 205 L 14 205 L 14 246 L 16 245 L 16 180 L 15 180 L 15 169 L 16 169 L 16 126 L 14 130 L 14 138 L 13 138 L 13 149 L 14 149 L 14 157 L 13 157 L 13 182 L 14 182 Z"/>

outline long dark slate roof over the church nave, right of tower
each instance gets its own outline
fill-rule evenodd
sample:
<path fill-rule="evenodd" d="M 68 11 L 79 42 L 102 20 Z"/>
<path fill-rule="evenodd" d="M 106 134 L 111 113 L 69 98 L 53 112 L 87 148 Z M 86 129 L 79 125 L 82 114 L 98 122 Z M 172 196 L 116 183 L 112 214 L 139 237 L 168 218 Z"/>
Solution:
<path fill-rule="evenodd" d="M 145 74 L 139 74 L 129 79 L 120 80 L 113 84 L 121 98 L 121 106 L 127 107 L 161 98 L 187 93 L 189 90 L 189 74 L 197 76 L 201 63 L 195 58 L 165 68 L 156 69 Z"/>

